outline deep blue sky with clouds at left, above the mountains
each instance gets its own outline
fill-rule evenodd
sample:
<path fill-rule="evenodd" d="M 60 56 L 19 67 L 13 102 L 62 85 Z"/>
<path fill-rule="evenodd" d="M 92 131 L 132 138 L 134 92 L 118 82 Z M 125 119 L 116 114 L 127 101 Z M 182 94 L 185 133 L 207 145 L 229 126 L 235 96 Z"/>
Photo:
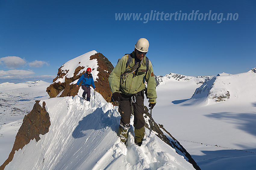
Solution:
<path fill-rule="evenodd" d="M 256 67 L 255 11 L 254 0 L 0 1 L 0 83 L 51 82 L 62 64 L 92 50 L 115 65 L 141 37 L 156 75 L 247 72 Z M 115 13 L 141 13 L 142 20 L 116 20 Z M 223 19 L 227 13 L 232 20 Z"/>

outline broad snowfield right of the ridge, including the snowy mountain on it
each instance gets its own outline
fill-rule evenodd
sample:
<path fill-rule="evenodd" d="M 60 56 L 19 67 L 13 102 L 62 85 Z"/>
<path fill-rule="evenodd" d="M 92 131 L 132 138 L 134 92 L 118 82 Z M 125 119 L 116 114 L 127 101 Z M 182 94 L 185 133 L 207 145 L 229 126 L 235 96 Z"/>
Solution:
<path fill-rule="evenodd" d="M 255 169 L 256 73 L 222 74 L 197 82 L 170 78 L 160 83 L 154 120 L 164 125 L 202 170 Z M 225 101 L 213 98 L 227 91 L 230 98 Z"/>

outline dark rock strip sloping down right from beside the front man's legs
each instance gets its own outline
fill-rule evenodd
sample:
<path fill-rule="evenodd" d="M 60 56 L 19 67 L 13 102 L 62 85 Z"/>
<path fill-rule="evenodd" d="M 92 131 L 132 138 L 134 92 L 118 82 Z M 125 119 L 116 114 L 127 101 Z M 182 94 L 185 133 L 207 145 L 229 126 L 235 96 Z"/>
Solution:
<path fill-rule="evenodd" d="M 150 129 L 150 113 L 148 112 L 148 108 L 144 106 L 144 118 L 145 118 L 145 127 Z M 163 131 L 170 136 L 170 139 L 164 135 Z M 156 136 L 158 136 L 162 141 L 170 145 L 172 148 L 176 150 L 176 152 L 188 159 L 188 162 L 192 164 L 192 166 L 197 169 L 201 170 L 200 167 L 196 164 L 195 160 L 191 157 L 191 155 L 186 151 L 186 149 L 177 141 L 167 130 L 164 129 L 164 126 L 161 124 L 157 124 L 154 119 L 152 118 L 151 122 L 151 130 L 154 131 Z M 153 132 L 152 132 L 153 133 Z"/>

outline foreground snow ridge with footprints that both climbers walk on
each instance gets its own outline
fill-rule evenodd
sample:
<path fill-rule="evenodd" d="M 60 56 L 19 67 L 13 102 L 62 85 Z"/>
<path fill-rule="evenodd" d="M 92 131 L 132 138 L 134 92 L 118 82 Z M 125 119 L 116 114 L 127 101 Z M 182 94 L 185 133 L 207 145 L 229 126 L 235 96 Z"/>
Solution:
<path fill-rule="evenodd" d="M 5 169 L 194 169 L 154 134 L 139 147 L 130 130 L 126 147 L 117 136 L 117 106 L 98 93 L 91 102 L 79 96 L 41 100 L 50 116 L 49 132 L 16 151 Z"/>

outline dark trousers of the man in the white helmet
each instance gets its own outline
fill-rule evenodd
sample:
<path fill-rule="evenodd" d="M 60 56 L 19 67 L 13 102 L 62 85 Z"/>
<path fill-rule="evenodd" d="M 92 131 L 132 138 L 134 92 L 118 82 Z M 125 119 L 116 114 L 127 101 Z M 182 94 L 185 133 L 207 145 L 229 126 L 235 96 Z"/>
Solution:
<path fill-rule="evenodd" d="M 139 92 L 141 93 L 141 92 Z M 136 129 L 140 129 L 145 125 L 145 120 L 143 118 L 144 113 L 144 93 L 140 96 L 135 96 L 136 102 L 132 103 L 133 112 L 134 112 L 134 124 L 133 126 Z M 123 100 L 119 103 L 118 112 L 121 115 L 120 124 L 122 123 L 124 126 L 130 125 L 130 118 L 132 114 L 132 106 L 131 99 Z"/>

